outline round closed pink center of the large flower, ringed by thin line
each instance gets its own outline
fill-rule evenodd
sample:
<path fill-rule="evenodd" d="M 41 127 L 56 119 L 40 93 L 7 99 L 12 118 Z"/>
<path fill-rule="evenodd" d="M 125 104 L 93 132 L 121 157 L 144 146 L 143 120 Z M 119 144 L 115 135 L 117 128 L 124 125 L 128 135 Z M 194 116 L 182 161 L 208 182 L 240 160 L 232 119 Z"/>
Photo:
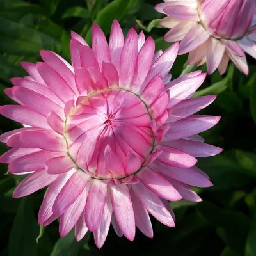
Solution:
<path fill-rule="evenodd" d="M 65 122 L 68 156 L 97 179 L 138 172 L 154 149 L 152 116 L 143 100 L 122 88 L 84 97 Z"/>

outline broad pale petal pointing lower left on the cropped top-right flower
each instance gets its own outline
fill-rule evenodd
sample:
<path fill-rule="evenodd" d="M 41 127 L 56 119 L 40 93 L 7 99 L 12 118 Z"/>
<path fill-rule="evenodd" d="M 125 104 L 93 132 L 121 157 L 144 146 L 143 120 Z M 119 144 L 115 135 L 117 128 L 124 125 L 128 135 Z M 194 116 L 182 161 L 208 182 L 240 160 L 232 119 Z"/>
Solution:
<path fill-rule="evenodd" d="M 185 54 L 196 49 L 196 47 L 203 44 L 209 38 L 209 36 L 210 34 L 204 29 L 203 26 L 199 24 L 195 25 L 189 30 L 187 35 L 180 43 L 179 53 Z"/>

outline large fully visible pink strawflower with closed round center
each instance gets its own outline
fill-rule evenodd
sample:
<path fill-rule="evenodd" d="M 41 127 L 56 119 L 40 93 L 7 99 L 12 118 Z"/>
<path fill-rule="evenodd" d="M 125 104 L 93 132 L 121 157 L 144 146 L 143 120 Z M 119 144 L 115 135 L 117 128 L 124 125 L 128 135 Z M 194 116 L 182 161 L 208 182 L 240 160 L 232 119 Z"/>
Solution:
<path fill-rule="evenodd" d="M 92 49 L 72 33 L 72 65 L 51 51 L 40 52 L 44 62 L 22 63 L 29 76 L 5 90 L 19 105 L 0 112 L 25 127 L 1 135 L 13 147 L 1 162 L 10 173 L 31 173 L 15 198 L 48 186 L 41 225 L 60 216 L 61 236 L 74 227 L 80 240 L 90 230 L 100 248 L 111 223 L 131 241 L 136 226 L 152 237 L 149 213 L 174 227 L 169 201 L 201 201 L 189 185 L 212 183 L 195 157 L 221 149 L 196 134 L 220 117 L 193 115 L 215 99 L 192 98 L 205 74 L 170 82 L 178 48 L 154 53 L 154 40 L 134 29 L 124 40 L 115 20 L 109 43 L 93 26 Z"/>

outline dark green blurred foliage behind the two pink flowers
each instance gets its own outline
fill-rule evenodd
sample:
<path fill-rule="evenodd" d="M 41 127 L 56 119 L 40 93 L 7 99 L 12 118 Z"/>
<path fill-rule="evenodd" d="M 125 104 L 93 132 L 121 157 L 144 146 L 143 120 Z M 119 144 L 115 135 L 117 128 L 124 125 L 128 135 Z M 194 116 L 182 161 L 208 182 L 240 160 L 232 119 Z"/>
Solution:
<path fill-rule="evenodd" d="M 0 100 L 12 104 L 3 89 L 11 86 L 10 77 L 25 76 L 20 61 L 41 61 L 38 51 L 49 49 L 70 61 L 70 30 L 91 40 L 93 22 L 106 35 L 113 19 L 125 33 L 132 26 L 145 30 L 156 40 L 157 49 L 166 49 L 166 29 L 155 28 L 161 15 L 154 11 L 160 1 L 150 0 L 0 0 Z M 152 22 L 152 20 L 154 20 Z M 178 56 L 173 78 L 186 67 L 187 56 Z M 168 228 L 152 218 L 154 239 L 136 230 L 133 243 L 109 230 L 101 250 L 93 237 L 79 243 L 72 232 L 60 238 L 58 221 L 40 228 L 37 213 L 44 191 L 24 199 L 13 199 L 12 192 L 22 177 L 0 172 L 0 255 L 76 256 L 76 255 L 256 255 L 256 63 L 249 58 L 250 75 L 243 76 L 232 65 L 223 76 L 208 76 L 197 95 L 218 94 L 204 114 L 221 115 L 221 122 L 204 132 L 207 143 L 225 150 L 220 156 L 200 159 L 214 187 L 196 189 L 201 203 L 175 202 L 176 228 Z M 184 70 L 185 68 L 185 70 Z M 200 69 L 205 71 L 205 67 Z M 0 132 L 20 127 L 3 116 Z M 186 129 L 186 127 L 184 127 Z M 8 150 L 0 145 L 1 154 Z"/>

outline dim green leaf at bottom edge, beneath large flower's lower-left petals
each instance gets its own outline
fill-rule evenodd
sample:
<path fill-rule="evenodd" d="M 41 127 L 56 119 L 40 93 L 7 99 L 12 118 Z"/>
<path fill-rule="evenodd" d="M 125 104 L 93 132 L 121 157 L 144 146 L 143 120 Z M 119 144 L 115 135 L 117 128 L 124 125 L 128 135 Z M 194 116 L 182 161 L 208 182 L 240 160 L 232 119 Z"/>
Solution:
<path fill-rule="evenodd" d="M 88 242 L 90 234 L 86 236 L 79 242 L 76 241 L 74 232 L 69 232 L 67 236 L 61 237 L 55 244 L 51 256 L 76 256 L 79 252 L 79 249 L 83 244 Z"/>

